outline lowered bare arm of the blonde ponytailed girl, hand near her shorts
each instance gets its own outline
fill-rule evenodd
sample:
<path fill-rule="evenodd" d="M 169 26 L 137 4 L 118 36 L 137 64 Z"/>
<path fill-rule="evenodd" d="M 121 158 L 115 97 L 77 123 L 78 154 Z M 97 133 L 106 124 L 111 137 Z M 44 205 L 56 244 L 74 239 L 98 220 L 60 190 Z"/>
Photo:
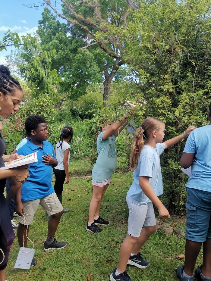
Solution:
<path fill-rule="evenodd" d="M 140 176 L 139 177 L 139 185 L 143 190 L 143 193 L 153 202 L 153 204 L 158 208 L 160 217 L 170 218 L 168 210 L 164 207 L 160 199 L 157 197 L 155 192 L 153 191 L 148 176 Z"/>

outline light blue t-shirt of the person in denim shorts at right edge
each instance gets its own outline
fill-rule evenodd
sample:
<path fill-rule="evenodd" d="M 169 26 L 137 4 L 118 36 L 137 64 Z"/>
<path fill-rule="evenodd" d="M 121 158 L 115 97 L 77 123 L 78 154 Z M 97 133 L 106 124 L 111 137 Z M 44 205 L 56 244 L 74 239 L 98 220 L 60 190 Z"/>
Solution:
<path fill-rule="evenodd" d="M 186 187 L 211 192 L 211 125 L 193 130 L 183 152 L 195 153 Z"/>

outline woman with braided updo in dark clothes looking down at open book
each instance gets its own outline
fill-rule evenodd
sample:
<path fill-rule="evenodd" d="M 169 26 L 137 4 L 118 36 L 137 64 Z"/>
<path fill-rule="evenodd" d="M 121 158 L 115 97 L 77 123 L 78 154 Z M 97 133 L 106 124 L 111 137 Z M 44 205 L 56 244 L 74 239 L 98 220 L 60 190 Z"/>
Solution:
<path fill-rule="evenodd" d="M 19 110 L 22 97 L 23 93 L 19 82 L 10 75 L 7 67 L 0 65 L 0 115 L 5 118 L 12 116 L 15 111 Z M 2 124 L 0 123 L 1 130 Z M 5 141 L 0 133 L 0 167 L 5 166 L 4 162 L 9 162 L 17 158 L 20 158 L 20 155 L 17 155 L 17 153 L 5 155 Z M 16 181 L 24 183 L 28 175 L 26 166 L 0 170 L 0 281 L 5 281 L 9 251 L 14 240 L 9 207 L 4 197 L 6 178 L 12 177 Z"/>

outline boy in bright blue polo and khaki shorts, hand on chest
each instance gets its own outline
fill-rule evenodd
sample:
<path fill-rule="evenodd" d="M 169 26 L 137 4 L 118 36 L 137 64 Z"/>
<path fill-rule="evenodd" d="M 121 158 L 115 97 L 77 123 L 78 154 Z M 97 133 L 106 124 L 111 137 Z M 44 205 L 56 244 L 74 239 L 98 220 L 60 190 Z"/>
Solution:
<path fill-rule="evenodd" d="M 24 206 L 25 226 L 24 217 L 20 217 L 17 229 L 18 242 L 20 246 L 23 246 L 24 242 L 24 247 L 27 247 L 26 225 L 28 225 L 29 231 L 29 225 L 33 221 L 34 214 L 38 206 L 41 205 L 50 215 L 44 251 L 64 248 L 67 243 L 58 242 L 54 237 L 64 210 L 51 183 L 52 167 L 57 165 L 57 160 L 52 144 L 46 141 L 48 131 L 45 119 L 39 115 L 30 115 L 26 119 L 25 130 L 27 135 L 31 134 L 31 139 L 28 139 L 27 143 L 17 153 L 28 155 L 37 151 L 38 162 L 30 164 L 30 178 L 22 186 L 21 200 Z"/>

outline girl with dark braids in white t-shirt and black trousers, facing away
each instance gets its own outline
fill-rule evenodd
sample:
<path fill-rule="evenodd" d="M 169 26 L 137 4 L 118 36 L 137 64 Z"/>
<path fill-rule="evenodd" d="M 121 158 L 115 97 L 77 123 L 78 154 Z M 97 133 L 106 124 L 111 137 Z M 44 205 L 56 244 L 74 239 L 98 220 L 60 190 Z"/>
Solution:
<path fill-rule="evenodd" d="M 61 130 L 61 135 L 59 142 L 56 144 L 55 155 L 58 161 L 58 165 L 53 168 L 56 180 L 54 185 L 54 190 L 59 201 L 62 204 L 62 191 L 63 184 L 69 183 L 69 173 L 68 165 L 70 162 L 70 145 L 68 142 L 71 142 L 73 137 L 73 128 L 70 126 L 64 127 Z M 64 209 L 64 213 L 69 212 L 70 209 Z"/>

